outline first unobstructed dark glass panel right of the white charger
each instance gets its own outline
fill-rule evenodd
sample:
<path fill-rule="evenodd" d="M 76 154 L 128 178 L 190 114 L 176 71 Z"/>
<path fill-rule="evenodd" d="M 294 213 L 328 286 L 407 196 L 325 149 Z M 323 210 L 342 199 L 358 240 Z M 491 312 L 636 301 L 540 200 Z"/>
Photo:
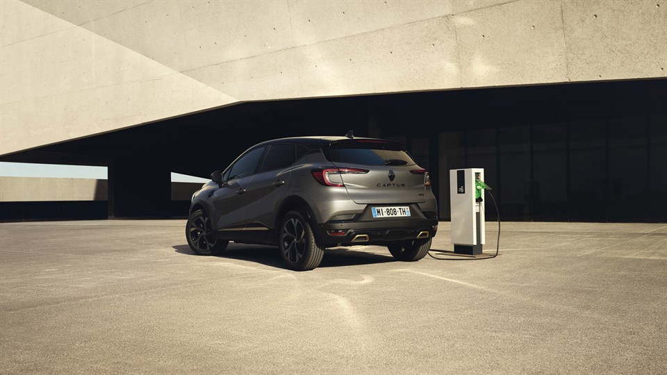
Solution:
<path fill-rule="evenodd" d="M 530 128 L 498 130 L 500 212 L 504 220 L 530 220 Z M 491 186 L 493 188 L 493 186 Z"/>

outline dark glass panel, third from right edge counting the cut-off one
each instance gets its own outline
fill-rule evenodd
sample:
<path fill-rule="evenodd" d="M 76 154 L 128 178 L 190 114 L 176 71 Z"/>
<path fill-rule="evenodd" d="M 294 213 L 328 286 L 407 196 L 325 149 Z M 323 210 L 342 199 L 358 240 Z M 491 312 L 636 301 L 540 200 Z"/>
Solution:
<path fill-rule="evenodd" d="M 600 120 L 570 123 L 570 221 L 607 222 L 605 126 Z"/>

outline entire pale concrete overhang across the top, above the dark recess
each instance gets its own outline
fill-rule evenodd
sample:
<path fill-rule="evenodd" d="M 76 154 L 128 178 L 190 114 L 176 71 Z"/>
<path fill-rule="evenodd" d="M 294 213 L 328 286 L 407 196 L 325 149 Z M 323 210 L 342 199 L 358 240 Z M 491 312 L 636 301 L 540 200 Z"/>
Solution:
<path fill-rule="evenodd" d="M 0 155 L 238 101 L 666 77 L 660 3 L 0 1 Z"/>

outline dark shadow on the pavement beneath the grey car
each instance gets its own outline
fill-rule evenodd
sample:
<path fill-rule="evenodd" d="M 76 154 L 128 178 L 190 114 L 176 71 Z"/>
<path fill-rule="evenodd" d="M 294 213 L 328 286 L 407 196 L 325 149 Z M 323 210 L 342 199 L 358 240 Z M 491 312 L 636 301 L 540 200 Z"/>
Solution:
<path fill-rule="evenodd" d="M 187 244 L 175 245 L 176 253 L 196 255 Z M 274 246 L 231 243 L 219 258 L 245 260 L 270 267 L 285 269 L 285 264 Z M 344 247 L 336 247 L 324 251 L 324 258 L 318 267 L 346 267 L 354 265 L 372 265 L 377 263 L 395 262 L 390 255 L 381 255 L 367 251 L 357 251 Z"/>

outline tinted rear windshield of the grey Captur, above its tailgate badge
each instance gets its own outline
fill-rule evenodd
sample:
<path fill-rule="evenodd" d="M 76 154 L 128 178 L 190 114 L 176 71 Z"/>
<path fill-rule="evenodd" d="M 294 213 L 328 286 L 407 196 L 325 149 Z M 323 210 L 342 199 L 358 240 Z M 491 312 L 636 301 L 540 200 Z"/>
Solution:
<path fill-rule="evenodd" d="M 415 165 L 398 142 L 382 140 L 343 140 L 329 146 L 331 161 L 362 165 Z"/>

